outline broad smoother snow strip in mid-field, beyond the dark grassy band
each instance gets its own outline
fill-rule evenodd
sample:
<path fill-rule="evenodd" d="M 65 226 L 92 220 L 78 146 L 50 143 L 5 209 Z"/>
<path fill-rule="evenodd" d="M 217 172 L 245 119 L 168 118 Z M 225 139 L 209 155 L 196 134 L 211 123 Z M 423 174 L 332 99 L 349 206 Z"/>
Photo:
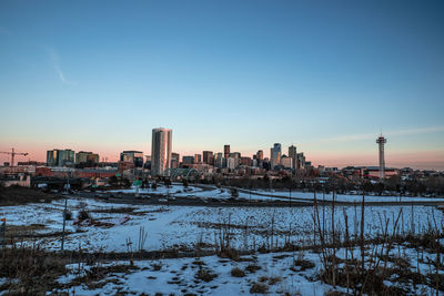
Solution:
<path fill-rule="evenodd" d="M 40 237 L 28 238 L 50 249 L 60 248 L 62 211 L 64 201 L 51 204 L 28 204 L 0 208 L 0 217 L 7 225 L 42 225 L 33 231 Z M 84 208 L 93 220 L 110 223 L 102 226 L 74 226 L 67 222 L 65 249 L 88 249 L 105 252 L 135 251 L 147 233 L 145 251 L 158 251 L 178 246 L 193 247 L 198 243 L 215 245 L 222 232 L 232 233 L 232 244 L 241 249 L 256 249 L 265 246 L 282 246 L 285 242 L 297 245 L 317 243 L 313 241 L 313 206 L 304 207 L 203 207 L 113 204 L 95 200 L 68 200 L 68 208 L 73 217 Z M 329 228 L 332 207 L 319 207 L 320 217 L 325 218 Z M 401 214 L 400 214 L 401 213 Z M 336 206 L 334 226 L 336 232 L 345 232 L 345 215 L 351 235 L 359 233 L 361 207 Z M 443 227 L 443 213 L 434 206 L 366 206 L 365 234 L 381 234 L 385 221 L 389 229 L 400 215 L 398 232 L 422 233 L 430 227 Z M 130 217 L 121 224 L 123 217 Z"/>

